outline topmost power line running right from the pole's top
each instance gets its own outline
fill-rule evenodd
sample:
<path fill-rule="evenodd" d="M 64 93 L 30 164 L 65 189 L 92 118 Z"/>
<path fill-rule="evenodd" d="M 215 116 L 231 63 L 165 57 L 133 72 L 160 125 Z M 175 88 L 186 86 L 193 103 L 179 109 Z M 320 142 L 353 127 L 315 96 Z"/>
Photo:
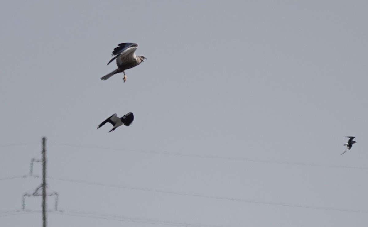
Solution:
<path fill-rule="evenodd" d="M 317 164 L 317 163 L 286 162 L 286 161 L 274 161 L 274 160 L 262 160 L 262 159 L 249 159 L 249 158 L 240 158 L 240 157 L 225 157 L 225 156 L 218 156 L 218 155 L 182 154 L 178 152 L 144 151 L 144 150 L 134 150 L 134 149 L 121 149 L 121 148 L 85 146 L 85 145 L 62 144 L 62 143 L 50 143 L 50 144 L 67 146 L 67 147 L 93 148 L 93 149 L 104 149 L 104 150 L 125 151 L 125 152 L 139 152 L 139 153 L 156 154 L 156 155 L 173 155 L 173 156 L 194 157 L 194 158 L 224 159 L 224 160 L 229 160 L 229 161 L 243 161 L 243 162 L 256 162 L 256 163 L 270 163 L 270 164 L 278 164 L 278 165 L 316 166 L 316 167 L 327 167 L 327 168 L 368 170 L 368 167 L 322 165 L 322 164 Z"/>

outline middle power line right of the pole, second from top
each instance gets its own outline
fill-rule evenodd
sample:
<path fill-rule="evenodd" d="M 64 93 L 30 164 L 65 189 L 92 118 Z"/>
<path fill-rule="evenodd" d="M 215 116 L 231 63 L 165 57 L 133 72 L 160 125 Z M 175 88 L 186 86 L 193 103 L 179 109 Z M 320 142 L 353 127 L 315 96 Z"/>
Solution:
<path fill-rule="evenodd" d="M 246 203 L 257 203 L 257 204 L 265 204 L 265 205 L 289 206 L 289 207 L 296 207 L 296 208 L 332 210 L 332 211 L 340 211 L 340 212 L 353 212 L 353 213 L 367 213 L 368 214 L 368 211 L 366 210 L 353 210 L 353 209 L 345 209 L 345 208 L 331 208 L 331 207 L 324 207 L 324 206 L 299 205 L 299 204 L 262 201 L 262 200 L 255 200 L 255 199 L 242 199 L 242 198 L 233 198 L 233 197 L 216 197 L 216 196 L 210 196 L 210 195 L 190 194 L 190 193 L 184 193 L 184 192 L 167 191 L 167 190 L 159 190 L 159 189 L 152 189 L 152 188 L 139 188 L 139 187 L 124 186 L 124 185 L 102 184 L 102 183 L 96 183 L 96 182 L 84 181 L 84 180 L 61 179 L 57 177 L 48 177 L 48 178 L 53 179 L 53 180 L 69 181 L 69 182 L 74 182 L 74 183 L 98 185 L 98 186 L 105 186 L 105 187 L 123 188 L 123 189 L 128 189 L 128 190 L 150 191 L 150 192 L 158 192 L 158 193 L 164 193 L 164 194 L 201 197 L 201 198 L 208 198 L 208 199 L 220 199 L 220 200 L 227 200 L 227 201 L 234 201 L 234 202 L 246 202 Z"/>

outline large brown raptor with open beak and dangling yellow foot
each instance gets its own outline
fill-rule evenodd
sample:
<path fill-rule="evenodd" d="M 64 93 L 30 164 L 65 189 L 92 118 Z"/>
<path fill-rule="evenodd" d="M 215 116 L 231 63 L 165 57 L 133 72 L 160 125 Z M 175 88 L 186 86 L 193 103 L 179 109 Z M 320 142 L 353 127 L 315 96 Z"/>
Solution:
<path fill-rule="evenodd" d="M 144 62 L 145 58 L 144 56 L 135 56 L 135 50 L 137 50 L 138 44 L 137 43 L 120 43 L 118 44 L 118 47 L 116 47 L 112 53 L 113 57 L 107 65 L 109 65 L 112 61 L 116 59 L 117 69 L 110 72 L 109 74 L 101 77 L 101 80 L 107 80 L 116 73 L 123 72 L 124 73 L 124 82 L 127 80 L 127 75 L 125 75 L 125 70 L 133 68 L 134 66 L 137 66 L 141 64 L 141 62 Z"/>

